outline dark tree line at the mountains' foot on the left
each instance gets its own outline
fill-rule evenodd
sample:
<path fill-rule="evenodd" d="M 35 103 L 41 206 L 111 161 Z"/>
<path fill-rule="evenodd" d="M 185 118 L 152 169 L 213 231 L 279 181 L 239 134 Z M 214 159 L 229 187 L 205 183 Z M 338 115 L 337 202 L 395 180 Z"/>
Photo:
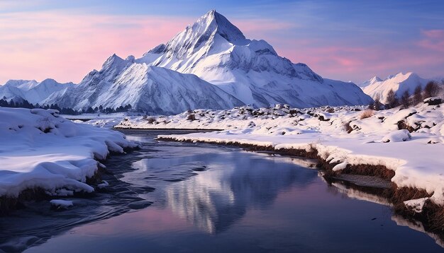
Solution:
<path fill-rule="evenodd" d="M 102 112 L 102 113 L 113 113 L 113 112 L 128 112 L 128 110 L 131 110 L 131 105 L 128 104 L 126 106 L 119 106 L 116 108 L 111 108 L 111 107 L 106 107 L 104 108 L 103 106 L 99 106 L 99 107 L 88 107 L 84 110 L 74 110 L 70 107 L 59 107 L 57 104 L 51 104 L 51 105 L 39 105 L 38 103 L 36 103 L 35 105 L 33 105 L 33 103 L 28 102 L 28 100 L 22 100 L 22 101 L 18 101 L 18 102 L 14 102 L 14 100 L 7 100 L 6 97 L 0 99 L 0 107 L 21 107 L 21 108 L 28 108 L 28 109 L 33 109 L 33 108 L 41 108 L 41 109 L 54 109 L 54 110 L 58 110 L 60 112 L 60 114 L 70 114 L 70 115 L 78 115 L 78 114 L 82 114 L 82 113 L 96 113 L 96 112 Z"/>

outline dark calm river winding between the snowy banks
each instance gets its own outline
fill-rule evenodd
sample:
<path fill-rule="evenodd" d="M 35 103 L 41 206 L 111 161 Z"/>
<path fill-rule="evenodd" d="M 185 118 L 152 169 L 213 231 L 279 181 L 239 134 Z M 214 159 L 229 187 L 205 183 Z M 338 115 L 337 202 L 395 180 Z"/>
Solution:
<path fill-rule="evenodd" d="M 107 160 L 109 187 L 72 198 L 66 211 L 43 200 L 0 218 L 0 249 L 443 252 L 373 203 L 383 199 L 324 182 L 310 160 L 153 140 L 179 132 L 125 131 L 143 148 Z"/>

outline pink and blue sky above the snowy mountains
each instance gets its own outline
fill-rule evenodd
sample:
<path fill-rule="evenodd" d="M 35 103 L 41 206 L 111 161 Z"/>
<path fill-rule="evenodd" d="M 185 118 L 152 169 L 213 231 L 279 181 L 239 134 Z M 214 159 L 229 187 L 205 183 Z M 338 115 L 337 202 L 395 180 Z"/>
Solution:
<path fill-rule="evenodd" d="M 138 57 L 213 8 L 238 25 L 247 37 L 266 40 L 282 57 L 309 64 L 313 71 L 327 78 L 360 82 L 375 75 L 385 77 L 400 71 L 414 71 L 425 77 L 444 76 L 444 1 L 3 0 L 0 1 L 0 23 L 8 25 L 3 30 L 0 25 L 0 33 L 7 34 L 8 38 L 0 39 L 0 55 L 15 60 L 0 64 L 2 69 L 11 69 L 9 72 L 13 73 L 11 76 L 0 73 L 0 83 L 9 78 L 43 78 L 44 74 L 60 81 L 79 81 L 87 69 L 99 67 L 107 55 L 116 52 Z M 21 16 L 29 22 L 22 23 Z M 67 27 L 64 29 L 62 23 L 55 25 L 57 19 L 65 20 Z M 158 21 L 153 21 L 156 19 Z M 79 27 L 95 27 L 97 30 L 91 29 L 90 33 L 103 36 L 86 45 L 78 42 L 75 48 L 68 47 L 70 44 L 64 42 L 63 37 L 57 37 L 57 29 L 72 30 L 74 34 L 76 20 L 89 24 L 79 23 Z M 162 34 L 152 32 L 162 24 L 170 26 L 162 30 Z M 33 36 L 28 39 L 23 35 L 27 29 L 33 30 Z M 58 48 L 43 40 L 40 35 L 46 30 L 54 32 L 58 45 L 65 43 L 66 46 Z M 108 43 L 113 32 L 135 37 L 134 44 L 125 40 L 118 45 L 110 44 L 109 48 L 99 48 L 100 53 L 83 49 L 91 43 Z M 84 34 L 73 37 L 81 35 Z M 20 42 L 14 41 L 17 37 Z M 68 35 L 65 37 L 73 40 Z M 16 45 L 16 55 L 10 50 L 12 45 Z M 83 61 L 79 57 L 74 62 L 82 66 L 77 68 L 78 72 L 72 71 L 72 66 L 63 71 L 60 66 L 66 59 L 57 63 L 54 58 L 51 62 L 59 68 L 56 73 L 51 72 L 51 63 L 40 64 L 41 69 L 35 64 L 28 68 L 33 61 L 42 60 L 45 54 L 51 53 L 49 48 L 36 49 L 35 45 L 57 48 L 55 54 L 63 54 L 64 49 L 66 55 L 85 54 Z M 94 48 L 91 45 L 91 50 Z M 19 59 L 25 51 L 30 59 L 21 62 Z M 26 71 L 19 76 L 13 68 Z"/>

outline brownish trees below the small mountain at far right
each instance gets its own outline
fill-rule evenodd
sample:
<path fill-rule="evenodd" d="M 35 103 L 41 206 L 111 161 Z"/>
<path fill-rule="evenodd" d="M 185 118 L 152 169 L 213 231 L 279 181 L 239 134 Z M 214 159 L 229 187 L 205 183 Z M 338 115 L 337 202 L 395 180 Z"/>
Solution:
<path fill-rule="evenodd" d="M 412 105 L 418 105 L 426 98 L 437 96 L 440 93 L 440 89 L 440 85 L 437 82 L 430 81 L 426 84 L 424 89 L 421 87 L 421 85 L 416 86 L 412 94 L 409 90 L 404 91 L 404 93 L 401 94 L 401 98 L 398 98 L 398 95 L 394 93 L 394 90 L 389 90 L 385 104 L 382 104 L 379 95 L 377 95 L 377 97 L 374 98 L 374 102 L 372 102 L 369 107 L 370 109 L 377 111 L 381 110 L 382 108 L 390 109 L 398 107 L 399 105 L 401 105 L 403 108 L 408 108 Z"/>

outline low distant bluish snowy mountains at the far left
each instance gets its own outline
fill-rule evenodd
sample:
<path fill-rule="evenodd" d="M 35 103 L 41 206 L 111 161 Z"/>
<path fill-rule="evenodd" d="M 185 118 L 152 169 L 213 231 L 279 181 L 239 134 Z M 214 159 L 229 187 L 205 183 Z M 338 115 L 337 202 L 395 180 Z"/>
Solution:
<path fill-rule="evenodd" d="M 73 85 L 73 83 L 57 83 L 57 81 L 50 78 L 40 83 L 35 80 L 9 80 L 4 86 L 0 86 L 0 98 L 15 101 L 28 100 L 33 104 L 41 103 L 52 93 Z"/>

